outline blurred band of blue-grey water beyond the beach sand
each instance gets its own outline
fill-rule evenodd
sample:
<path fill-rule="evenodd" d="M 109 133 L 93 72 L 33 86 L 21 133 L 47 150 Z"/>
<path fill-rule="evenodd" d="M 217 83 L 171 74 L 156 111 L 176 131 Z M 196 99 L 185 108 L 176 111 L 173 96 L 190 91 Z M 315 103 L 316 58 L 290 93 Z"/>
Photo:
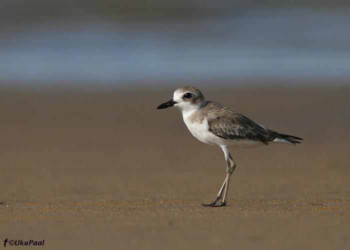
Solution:
<path fill-rule="evenodd" d="M 193 79 L 238 84 L 256 78 L 348 82 L 349 27 L 348 9 L 9 27 L 0 36 L 0 84 L 124 86 Z"/>

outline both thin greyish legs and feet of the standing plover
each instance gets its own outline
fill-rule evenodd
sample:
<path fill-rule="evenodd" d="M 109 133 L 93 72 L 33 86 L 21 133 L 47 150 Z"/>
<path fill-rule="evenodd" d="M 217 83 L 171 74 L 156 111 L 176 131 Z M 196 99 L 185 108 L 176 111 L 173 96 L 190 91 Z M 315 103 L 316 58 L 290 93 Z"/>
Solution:
<path fill-rule="evenodd" d="M 223 182 L 221 189 L 219 190 L 219 192 L 216 195 L 216 198 L 213 202 L 209 203 L 209 204 L 203 204 L 204 206 L 224 206 L 226 205 L 226 201 L 227 201 L 227 192 L 228 192 L 228 184 L 229 184 L 229 179 L 231 177 L 231 174 L 234 170 L 234 168 L 236 167 L 236 163 L 234 162 L 234 160 L 232 159 L 230 153 L 228 152 L 227 147 L 221 147 L 224 154 L 225 154 L 225 159 L 227 162 L 227 175 L 225 178 L 225 181 Z M 222 192 L 223 192 L 223 198 L 222 197 Z M 219 204 L 216 205 L 218 200 L 221 200 L 221 202 Z"/>

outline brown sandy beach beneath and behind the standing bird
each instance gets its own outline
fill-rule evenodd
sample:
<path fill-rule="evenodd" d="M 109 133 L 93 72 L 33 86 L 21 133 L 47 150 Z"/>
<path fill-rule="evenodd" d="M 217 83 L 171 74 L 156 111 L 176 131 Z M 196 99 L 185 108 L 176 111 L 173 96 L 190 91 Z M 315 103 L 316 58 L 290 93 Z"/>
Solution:
<path fill-rule="evenodd" d="M 0 241 L 45 249 L 349 249 L 350 89 L 202 89 L 301 145 L 190 135 L 171 90 L 0 93 Z M 2 246 L 1 246 L 2 247 Z M 11 247 L 11 246 L 6 246 Z M 15 248 L 14 246 L 12 246 Z M 30 247 L 25 247 L 30 248 Z"/>

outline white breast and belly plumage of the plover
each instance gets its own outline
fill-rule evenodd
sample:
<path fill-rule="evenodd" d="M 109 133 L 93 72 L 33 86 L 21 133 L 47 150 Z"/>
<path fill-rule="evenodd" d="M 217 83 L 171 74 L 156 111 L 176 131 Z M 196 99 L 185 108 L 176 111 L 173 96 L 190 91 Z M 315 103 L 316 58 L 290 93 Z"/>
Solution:
<path fill-rule="evenodd" d="M 183 121 L 194 137 L 208 144 L 236 148 L 253 148 L 262 145 L 261 142 L 253 140 L 225 140 L 220 138 L 209 131 L 209 125 L 206 119 L 199 123 L 190 122 L 186 117 L 183 117 Z"/>

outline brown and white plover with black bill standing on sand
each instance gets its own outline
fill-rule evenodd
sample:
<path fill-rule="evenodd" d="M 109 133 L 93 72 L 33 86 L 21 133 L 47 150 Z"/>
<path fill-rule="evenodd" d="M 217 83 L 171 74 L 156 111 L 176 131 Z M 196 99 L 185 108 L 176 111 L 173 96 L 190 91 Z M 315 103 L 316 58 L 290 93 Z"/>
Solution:
<path fill-rule="evenodd" d="M 198 140 L 218 145 L 227 162 L 227 175 L 213 202 L 204 206 L 224 206 L 230 176 L 236 167 L 228 148 L 247 148 L 270 143 L 296 145 L 302 138 L 283 134 L 263 127 L 248 117 L 213 101 L 206 101 L 198 88 L 186 86 L 175 90 L 171 100 L 157 109 L 176 106 L 191 134 Z M 222 197 L 223 193 L 223 197 Z M 218 204 L 217 201 L 220 202 Z"/>

